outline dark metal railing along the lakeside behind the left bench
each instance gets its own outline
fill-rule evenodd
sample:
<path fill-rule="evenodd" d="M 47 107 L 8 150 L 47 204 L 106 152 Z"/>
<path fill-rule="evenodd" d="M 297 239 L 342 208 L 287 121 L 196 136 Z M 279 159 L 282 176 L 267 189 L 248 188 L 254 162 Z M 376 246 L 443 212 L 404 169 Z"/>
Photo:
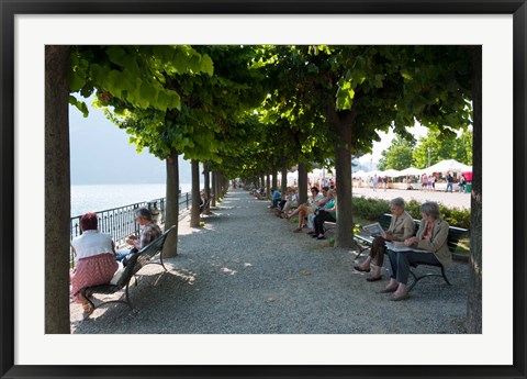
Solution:
<path fill-rule="evenodd" d="M 179 194 L 179 211 L 189 209 L 192 203 L 192 193 L 186 192 Z M 183 207 L 184 209 L 183 209 Z M 115 246 L 121 246 L 131 234 L 138 235 L 139 224 L 135 221 L 135 210 L 146 207 L 150 210 L 154 220 L 159 224 L 165 224 L 166 198 L 155 199 L 150 201 L 137 202 L 130 205 L 113 208 L 104 211 L 96 212 L 98 216 L 99 231 L 108 233 L 112 236 Z M 70 241 L 82 234 L 80 230 L 80 218 L 82 215 L 72 216 L 70 224 Z M 75 267 L 74 253 L 70 250 L 70 267 Z"/>

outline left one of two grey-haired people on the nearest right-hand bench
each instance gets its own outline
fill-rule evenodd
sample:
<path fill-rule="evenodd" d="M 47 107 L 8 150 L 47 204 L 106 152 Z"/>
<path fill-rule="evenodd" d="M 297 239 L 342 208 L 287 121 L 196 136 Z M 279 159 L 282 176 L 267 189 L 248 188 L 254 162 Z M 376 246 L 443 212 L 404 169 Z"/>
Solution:
<path fill-rule="evenodd" d="M 384 253 L 386 250 L 386 241 L 403 242 L 414 235 L 414 220 L 412 215 L 405 211 L 403 198 L 395 198 L 390 201 L 390 212 L 392 212 L 392 221 L 388 231 L 375 237 L 371 244 L 370 254 L 362 265 L 354 266 L 357 271 L 370 272 L 371 261 L 375 259 L 375 268 L 370 277 L 366 280 L 377 281 L 382 279 L 381 270 L 384 263 Z"/>

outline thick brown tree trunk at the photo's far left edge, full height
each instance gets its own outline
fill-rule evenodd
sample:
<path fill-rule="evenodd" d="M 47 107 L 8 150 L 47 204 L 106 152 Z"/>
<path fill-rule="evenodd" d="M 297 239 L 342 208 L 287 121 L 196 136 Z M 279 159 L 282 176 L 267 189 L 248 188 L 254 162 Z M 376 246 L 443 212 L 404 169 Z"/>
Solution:
<path fill-rule="evenodd" d="M 69 46 L 45 48 L 45 333 L 69 334 Z"/>

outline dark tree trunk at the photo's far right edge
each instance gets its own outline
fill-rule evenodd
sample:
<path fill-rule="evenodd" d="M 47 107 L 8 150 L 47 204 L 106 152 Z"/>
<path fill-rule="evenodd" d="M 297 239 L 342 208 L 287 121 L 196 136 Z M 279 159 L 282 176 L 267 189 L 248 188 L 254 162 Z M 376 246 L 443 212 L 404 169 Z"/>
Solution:
<path fill-rule="evenodd" d="M 482 100 L 481 100 L 481 46 L 474 46 L 472 77 L 473 148 L 472 198 L 470 214 L 470 282 L 467 301 L 467 332 L 482 333 Z"/>

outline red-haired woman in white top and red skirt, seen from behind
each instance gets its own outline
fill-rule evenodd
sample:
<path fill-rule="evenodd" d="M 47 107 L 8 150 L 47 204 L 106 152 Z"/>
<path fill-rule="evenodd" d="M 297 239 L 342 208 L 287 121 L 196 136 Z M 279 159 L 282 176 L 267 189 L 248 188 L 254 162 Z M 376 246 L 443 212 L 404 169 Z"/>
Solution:
<path fill-rule="evenodd" d="M 79 291 L 85 287 L 109 283 L 119 268 L 115 261 L 115 244 L 110 234 L 99 232 L 97 224 L 96 213 L 82 214 L 82 234 L 71 241 L 72 252 L 78 260 L 69 276 L 71 298 L 82 304 L 86 313 L 92 313 L 93 309 Z"/>

